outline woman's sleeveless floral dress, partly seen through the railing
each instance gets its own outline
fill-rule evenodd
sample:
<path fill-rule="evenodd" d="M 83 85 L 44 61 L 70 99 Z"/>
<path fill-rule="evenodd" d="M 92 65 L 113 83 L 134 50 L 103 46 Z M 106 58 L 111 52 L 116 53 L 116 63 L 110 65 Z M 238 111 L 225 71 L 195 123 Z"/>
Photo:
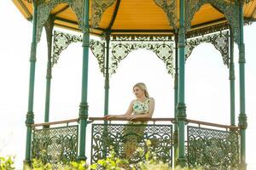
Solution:
<path fill-rule="evenodd" d="M 133 114 L 148 114 L 150 99 L 146 99 L 144 102 L 135 100 L 132 105 Z M 123 130 L 124 139 L 124 157 L 132 162 L 132 160 L 138 156 L 137 148 L 142 142 L 144 130 L 147 122 L 129 122 Z"/>

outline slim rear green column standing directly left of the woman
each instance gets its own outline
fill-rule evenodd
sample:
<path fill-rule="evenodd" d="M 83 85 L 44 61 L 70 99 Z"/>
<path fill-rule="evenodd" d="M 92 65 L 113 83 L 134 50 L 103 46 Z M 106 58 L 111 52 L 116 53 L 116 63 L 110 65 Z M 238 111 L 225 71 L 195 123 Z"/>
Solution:
<path fill-rule="evenodd" d="M 107 31 L 105 34 L 107 43 L 106 52 L 106 62 L 105 62 L 105 100 L 104 100 L 104 116 L 108 115 L 108 99 L 109 99 L 109 42 L 110 42 L 110 32 Z M 107 123 L 107 122 L 105 122 Z"/>

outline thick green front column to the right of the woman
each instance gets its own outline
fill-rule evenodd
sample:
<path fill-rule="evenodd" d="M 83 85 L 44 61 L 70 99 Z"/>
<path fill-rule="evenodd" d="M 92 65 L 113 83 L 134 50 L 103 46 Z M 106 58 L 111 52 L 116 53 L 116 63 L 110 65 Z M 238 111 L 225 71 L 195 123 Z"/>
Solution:
<path fill-rule="evenodd" d="M 185 105 L 185 29 L 184 29 L 184 14 L 185 1 L 179 0 L 179 31 L 178 31 L 178 103 L 177 103 L 177 121 L 178 121 L 178 158 L 177 163 L 181 167 L 186 166 L 185 158 L 185 120 L 186 120 L 186 105 Z"/>

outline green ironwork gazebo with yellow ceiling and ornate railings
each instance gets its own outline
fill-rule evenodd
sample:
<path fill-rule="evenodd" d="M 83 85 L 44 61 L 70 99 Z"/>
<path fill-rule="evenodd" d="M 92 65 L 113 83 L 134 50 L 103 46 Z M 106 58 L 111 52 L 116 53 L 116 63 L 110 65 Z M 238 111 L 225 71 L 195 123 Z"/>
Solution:
<path fill-rule="evenodd" d="M 74 160 L 91 162 L 108 156 L 111 148 L 122 156 L 122 136 L 127 124 L 109 122 L 103 117 L 93 117 L 87 103 L 89 50 L 95 55 L 105 78 L 104 114 L 108 114 L 109 77 L 119 62 L 134 49 L 145 48 L 154 52 L 166 64 L 174 77 L 173 115 L 138 121 L 148 123 L 139 145 L 148 150 L 150 140 L 156 156 L 170 167 L 206 169 L 246 169 L 245 111 L 245 47 L 243 26 L 256 19 L 255 0 L 13 0 L 26 20 L 32 21 L 32 46 L 30 56 L 30 82 L 28 111 L 26 114 L 26 157 L 50 163 Z M 59 26 L 82 32 L 83 37 L 61 31 Z M 47 86 L 43 123 L 34 122 L 33 94 L 37 45 L 45 28 L 48 44 Z M 90 35 L 102 40 L 90 39 Z M 61 52 L 72 42 L 82 42 L 83 79 L 79 118 L 49 122 L 49 99 L 52 67 Z M 141 43 L 143 42 L 143 43 Z M 230 124 L 190 120 L 185 105 L 185 61 L 201 42 L 210 42 L 230 71 Z M 239 48 L 239 123 L 235 123 L 235 67 L 234 44 Z M 94 123 L 102 121 L 102 123 Z M 168 124 L 158 124 L 169 122 Z M 86 141 L 86 128 L 92 123 L 91 141 Z M 64 125 L 63 125 L 64 124 Z M 66 124 L 66 125 L 65 125 Z M 57 126 L 57 127 L 55 127 Z M 135 125 L 134 125 L 135 126 Z M 140 125 L 137 125 L 140 126 Z M 173 126 L 173 128 L 172 128 Z M 136 133 L 132 133 L 136 136 Z M 86 152 L 85 145 L 91 150 Z M 112 146 L 112 147 L 110 147 Z M 144 155 L 143 155 L 144 156 Z M 134 156 L 131 162 L 142 161 Z"/>

